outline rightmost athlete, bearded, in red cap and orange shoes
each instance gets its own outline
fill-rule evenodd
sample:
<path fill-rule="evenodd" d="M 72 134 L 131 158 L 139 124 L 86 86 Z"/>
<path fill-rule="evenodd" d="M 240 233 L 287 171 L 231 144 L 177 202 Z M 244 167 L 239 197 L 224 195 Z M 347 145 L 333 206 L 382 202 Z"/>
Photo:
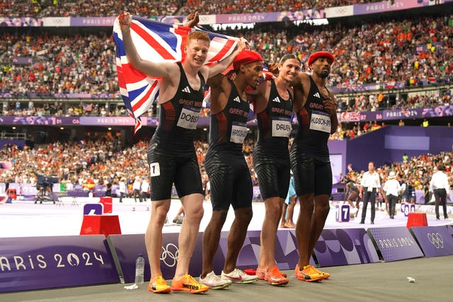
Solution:
<path fill-rule="evenodd" d="M 329 211 L 332 170 L 327 141 L 338 127 L 337 103 L 326 88 L 333 55 L 315 52 L 308 59 L 311 74 L 299 73 L 294 85 L 294 112 L 299 129 L 289 158 L 294 173 L 294 187 L 300 201 L 296 224 L 299 262 L 294 274 L 304 281 L 320 281 L 330 274 L 310 265 L 310 256 Z"/>

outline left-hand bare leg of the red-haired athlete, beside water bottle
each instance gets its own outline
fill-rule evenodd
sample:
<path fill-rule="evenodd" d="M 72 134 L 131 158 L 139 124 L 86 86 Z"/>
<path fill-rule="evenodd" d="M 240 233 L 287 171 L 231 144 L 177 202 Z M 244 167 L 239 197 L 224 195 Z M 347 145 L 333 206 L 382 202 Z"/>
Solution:
<path fill-rule="evenodd" d="M 151 202 L 151 217 L 144 237 L 151 267 L 151 279 L 162 275 L 159 258 L 162 252 L 162 228 L 168 209 L 170 209 L 170 199 Z"/>

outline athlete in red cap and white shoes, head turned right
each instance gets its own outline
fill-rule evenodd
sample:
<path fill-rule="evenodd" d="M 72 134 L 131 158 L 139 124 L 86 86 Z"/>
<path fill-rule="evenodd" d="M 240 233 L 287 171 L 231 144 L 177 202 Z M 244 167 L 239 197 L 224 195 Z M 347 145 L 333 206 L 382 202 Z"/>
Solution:
<path fill-rule="evenodd" d="M 211 184 L 212 217 L 203 233 L 203 260 L 200 283 L 222 289 L 234 283 L 251 283 L 258 277 L 236 268 L 239 251 L 252 219 L 253 186 L 242 144 L 247 136 L 248 103 L 246 88 L 257 86 L 263 76 L 263 58 L 243 50 L 233 62 L 236 78 L 219 74 L 207 83 L 211 87 L 210 147 L 205 167 Z M 214 255 L 229 207 L 234 221 L 228 235 L 228 250 L 221 277 L 214 272 Z"/>

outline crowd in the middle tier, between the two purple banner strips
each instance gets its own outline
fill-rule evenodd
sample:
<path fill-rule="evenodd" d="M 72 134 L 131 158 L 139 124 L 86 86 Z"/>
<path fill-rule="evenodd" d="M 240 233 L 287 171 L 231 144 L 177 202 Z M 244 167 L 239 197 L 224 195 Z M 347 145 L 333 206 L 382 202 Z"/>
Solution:
<path fill-rule="evenodd" d="M 253 30 L 231 28 L 223 33 L 243 35 L 250 41 L 251 48 L 260 52 L 268 63 L 277 62 L 287 52 L 299 54 L 305 63 L 311 52 L 328 50 L 336 57 L 328 87 L 355 91 L 367 84 L 391 89 L 395 83 L 418 86 L 452 81 L 452 24 L 453 15 L 448 15 L 361 26 L 294 25 L 274 29 L 262 25 Z M 0 93 L 21 96 L 34 91 L 46 96 L 50 92 L 96 94 L 119 91 L 115 46 L 110 33 L 43 35 L 28 31 L 25 36 L 18 33 L 2 35 Z M 13 59 L 17 57 L 31 57 L 33 64 L 14 64 Z M 441 97 L 430 102 L 445 103 Z M 359 108 L 346 106 L 343 110 L 377 110 L 396 105 L 379 102 L 379 93 L 369 100 L 365 96 L 357 98 L 355 103 L 361 103 Z M 374 98 L 379 106 L 373 108 Z M 447 101 L 451 103 L 451 98 Z M 415 106 L 415 103 L 411 105 Z"/>

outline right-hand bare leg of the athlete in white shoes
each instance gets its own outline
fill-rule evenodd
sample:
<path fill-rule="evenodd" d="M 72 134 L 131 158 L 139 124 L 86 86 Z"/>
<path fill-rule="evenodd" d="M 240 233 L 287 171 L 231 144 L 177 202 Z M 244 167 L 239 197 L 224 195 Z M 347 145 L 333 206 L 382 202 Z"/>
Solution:
<path fill-rule="evenodd" d="M 226 274 L 229 274 L 236 268 L 236 261 L 238 260 L 243 241 L 246 240 L 247 228 L 252 220 L 252 216 L 253 211 L 251 207 L 234 210 L 234 221 L 229 230 L 228 251 L 226 252 L 224 264 L 224 272 Z M 277 217 L 280 218 L 280 216 Z M 218 242 L 219 240 L 217 240 Z"/>

